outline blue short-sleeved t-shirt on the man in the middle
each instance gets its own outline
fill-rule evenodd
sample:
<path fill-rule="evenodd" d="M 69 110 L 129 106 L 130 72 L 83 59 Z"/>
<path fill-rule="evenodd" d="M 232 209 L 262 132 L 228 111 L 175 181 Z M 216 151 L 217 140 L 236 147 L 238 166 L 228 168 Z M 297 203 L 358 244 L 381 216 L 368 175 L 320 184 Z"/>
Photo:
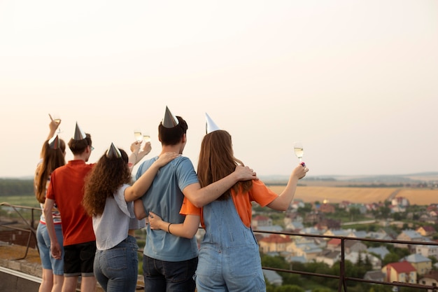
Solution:
<path fill-rule="evenodd" d="M 137 171 L 136 179 L 139 179 L 157 159 L 155 157 L 143 162 Z M 183 223 L 185 217 L 179 214 L 184 199 L 182 190 L 198 182 L 190 159 L 184 156 L 175 158 L 157 172 L 149 190 L 141 197 L 146 214 L 153 211 L 164 221 Z M 178 262 L 197 257 L 198 249 L 195 237 L 178 237 L 164 230 L 151 230 L 150 225 L 147 225 L 143 253 L 157 260 Z"/>

